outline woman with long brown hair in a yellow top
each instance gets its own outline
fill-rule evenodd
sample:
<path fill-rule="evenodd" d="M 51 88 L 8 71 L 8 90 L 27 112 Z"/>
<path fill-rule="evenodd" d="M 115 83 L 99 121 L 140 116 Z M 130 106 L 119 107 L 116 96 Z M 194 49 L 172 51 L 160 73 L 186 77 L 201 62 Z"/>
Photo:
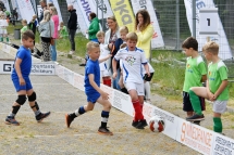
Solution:
<path fill-rule="evenodd" d="M 136 13 L 135 30 L 138 36 L 136 47 L 144 50 L 146 59 L 150 59 L 150 41 L 153 35 L 153 27 L 150 24 L 150 16 L 147 10 L 139 10 Z"/>

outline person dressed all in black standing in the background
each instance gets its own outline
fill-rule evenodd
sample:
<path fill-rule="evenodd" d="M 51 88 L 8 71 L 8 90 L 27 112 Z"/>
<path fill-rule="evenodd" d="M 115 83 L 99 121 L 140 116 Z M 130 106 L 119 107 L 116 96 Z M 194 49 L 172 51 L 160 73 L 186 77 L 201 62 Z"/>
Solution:
<path fill-rule="evenodd" d="M 69 12 L 71 13 L 67 22 L 67 30 L 69 30 L 69 39 L 71 42 L 71 51 L 70 54 L 74 54 L 75 52 L 75 33 L 77 29 L 77 14 L 76 10 L 73 9 L 73 5 L 67 7 Z"/>

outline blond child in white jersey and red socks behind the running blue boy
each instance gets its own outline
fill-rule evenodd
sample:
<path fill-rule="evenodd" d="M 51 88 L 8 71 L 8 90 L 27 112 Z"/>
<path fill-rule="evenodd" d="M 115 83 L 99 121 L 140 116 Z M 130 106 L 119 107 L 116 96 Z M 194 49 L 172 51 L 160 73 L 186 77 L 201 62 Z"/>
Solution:
<path fill-rule="evenodd" d="M 98 42 L 100 43 L 100 57 L 103 59 L 110 54 L 109 50 L 104 49 L 104 33 L 98 31 L 96 37 L 98 38 Z M 111 73 L 110 73 L 110 59 L 100 63 L 100 77 L 102 78 L 103 85 L 111 87 Z"/>

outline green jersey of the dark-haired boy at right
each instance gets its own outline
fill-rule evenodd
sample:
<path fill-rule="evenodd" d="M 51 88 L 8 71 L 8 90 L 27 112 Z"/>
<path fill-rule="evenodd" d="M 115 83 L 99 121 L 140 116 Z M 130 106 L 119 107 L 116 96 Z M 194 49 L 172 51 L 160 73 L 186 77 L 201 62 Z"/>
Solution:
<path fill-rule="evenodd" d="M 201 77 L 206 74 L 207 68 L 201 56 L 187 57 L 183 91 L 188 92 L 192 87 L 201 87 Z"/>

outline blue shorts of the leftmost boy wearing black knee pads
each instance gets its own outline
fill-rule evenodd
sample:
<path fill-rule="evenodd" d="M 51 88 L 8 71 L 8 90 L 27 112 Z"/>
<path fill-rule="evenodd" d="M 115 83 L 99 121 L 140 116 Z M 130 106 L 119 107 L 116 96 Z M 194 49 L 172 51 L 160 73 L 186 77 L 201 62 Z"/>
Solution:
<path fill-rule="evenodd" d="M 28 91 L 28 90 L 33 89 L 33 86 L 30 83 L 29 77 L 23 77 L 23 78 L 24 78 L 25 83 L 26 83 L 24 86 L 20 85 L 20 79 L 19 78 L 12 78 L 12 81 L 14 83 L 14 88 L 15 88 L 16 92 L 19 92 L 20 90 Z"/>

